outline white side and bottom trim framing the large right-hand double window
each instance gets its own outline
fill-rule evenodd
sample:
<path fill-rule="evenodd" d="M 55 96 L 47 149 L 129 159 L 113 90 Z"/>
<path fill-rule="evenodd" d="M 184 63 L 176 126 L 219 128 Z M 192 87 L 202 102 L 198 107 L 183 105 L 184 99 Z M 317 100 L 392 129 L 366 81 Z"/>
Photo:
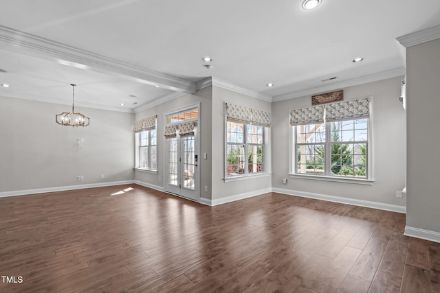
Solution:
<path fill-rule="evenodd" d="M 353 119 L 355 120 L 355 119 Z M 373 185 L 375 182 L 373 177 L 373 118 L 370 115 L 368 119 L 368 148 L 367 148 L 367 159 L 368 165 L 366 166 L 367 178 L 350 178 L 350 177 L 339 177 L 339 176 L 325 176 L 325 175 L 312 175 L 312 174 L 298 174 L 294 172 L 295 161 L 296 160 L 296 126 L 289 126 L 289 177 L 307 180 L 322 180 L 331 181 L 338 183 L 353 183 L 361 185 Z M 327 163 L 327 162 L 326 162 Z"/>

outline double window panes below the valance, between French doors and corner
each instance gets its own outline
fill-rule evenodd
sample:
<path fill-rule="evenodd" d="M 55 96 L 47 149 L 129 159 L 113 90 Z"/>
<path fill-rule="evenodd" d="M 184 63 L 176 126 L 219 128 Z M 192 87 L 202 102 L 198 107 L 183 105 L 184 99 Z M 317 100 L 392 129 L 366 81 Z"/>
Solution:
<path fill-rule="evenodd" d="M 226 122 L 226 175 L 264 171 L 263 126 Z"/>

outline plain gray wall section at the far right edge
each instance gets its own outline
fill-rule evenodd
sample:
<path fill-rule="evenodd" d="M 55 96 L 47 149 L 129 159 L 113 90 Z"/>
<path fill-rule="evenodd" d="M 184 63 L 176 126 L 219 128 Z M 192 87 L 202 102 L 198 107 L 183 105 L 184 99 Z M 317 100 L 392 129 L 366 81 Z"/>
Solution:
<path fill-rule="evenodd" d="M 408 174 L 406 224 L 440 233 L 440 39 L 406 49 Z"/>

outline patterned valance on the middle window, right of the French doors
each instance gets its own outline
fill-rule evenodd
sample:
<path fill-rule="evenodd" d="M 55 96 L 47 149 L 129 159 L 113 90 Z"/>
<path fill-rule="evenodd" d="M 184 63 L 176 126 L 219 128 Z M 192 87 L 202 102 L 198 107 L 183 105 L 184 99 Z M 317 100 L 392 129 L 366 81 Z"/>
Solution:
<path fill-rule="evenodd" d="M 225 104 L 226 119 L 231 122 L 270 127 L 270 113 L 234 104 Z"/>

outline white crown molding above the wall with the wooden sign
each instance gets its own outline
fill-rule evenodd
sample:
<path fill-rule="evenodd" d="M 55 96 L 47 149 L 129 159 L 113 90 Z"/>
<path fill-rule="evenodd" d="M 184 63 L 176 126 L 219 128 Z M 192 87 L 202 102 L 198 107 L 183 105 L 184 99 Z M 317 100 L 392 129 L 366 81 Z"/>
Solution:
<path fill-rule="evenodd" d="M 304 97 L 306 95 L 314 95 L 316 93 L 324 93 L 326 91 L 334 91 L 336 89 L 343 89 L 348 86 L 357 86 L 360 84 L 366 84 L 369 82 L 377 82 L 379 80 L 386 80 L 387 78 L 395 78 L 397 76 L 405 75 L 406 69 L 400 67 L 388 71 L 382 71 L 380 73 L 374 73 L 370 75 L 364 75 L 359 78 L 352 78 L 351 80 L 344 80 L 342 82 L 335 82 L 326 86 L 319 86 L 312 89 L 305 89 L 302 91 L 295 91 L 293 93 L 287 93 L 285 95 L 276 95 L 273 97 L 272 102 L 283 101 L 285 99 L 294 99 L 296 97 Z"/>

